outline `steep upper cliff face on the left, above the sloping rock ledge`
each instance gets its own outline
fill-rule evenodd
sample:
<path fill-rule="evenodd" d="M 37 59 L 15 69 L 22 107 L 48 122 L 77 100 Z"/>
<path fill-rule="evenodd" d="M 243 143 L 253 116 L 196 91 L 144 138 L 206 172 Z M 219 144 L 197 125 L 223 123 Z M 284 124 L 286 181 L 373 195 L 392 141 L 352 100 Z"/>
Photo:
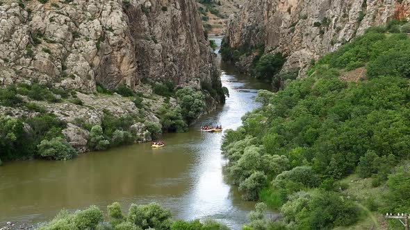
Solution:
<path fill-rule="evenodd" d="M 193 0 L 10 1 L 0 6 L 0 86 L 95 91 L 141 80 L 220 82 Z M 219 84 L 219 83 L 218 83 Z"/>

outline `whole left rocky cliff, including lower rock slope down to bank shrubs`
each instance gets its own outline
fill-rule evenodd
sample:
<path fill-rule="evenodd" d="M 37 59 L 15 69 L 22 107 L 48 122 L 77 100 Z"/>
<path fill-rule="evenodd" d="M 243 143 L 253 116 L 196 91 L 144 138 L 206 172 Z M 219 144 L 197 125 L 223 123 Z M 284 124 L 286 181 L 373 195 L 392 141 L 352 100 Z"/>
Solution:
<path fill-rule="evenodd" d="M 222 87 L 215 57 L 194 0 L 0 0 L 0 89 L 12 86 L 0 91 L 0 116 L 54 114 L 80 152 L 88 150 L 84 124 L 107 113 L 132 118 L 126 129 L 148 141 L 144 122 L 161 123 L 158 108 L 177 104 L 151 85 L 204 87 L 206 112 L 224 100 L 214 93 Z M 113 94 L 124 85 L 133 92 Z"/>

